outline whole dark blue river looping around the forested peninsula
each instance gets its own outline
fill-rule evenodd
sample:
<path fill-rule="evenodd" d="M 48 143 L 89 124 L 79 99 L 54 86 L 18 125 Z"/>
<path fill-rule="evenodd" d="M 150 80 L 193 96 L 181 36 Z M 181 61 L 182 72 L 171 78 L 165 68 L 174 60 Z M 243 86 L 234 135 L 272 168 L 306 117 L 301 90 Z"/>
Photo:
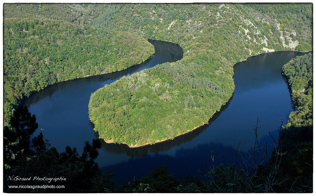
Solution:
<path fill-rule="evenodd" d="M 88 118 L 91 93 L 123 75 L 139 72 L 164 62 L 182 58 L 178 45 L 151 41 L 155 55 L 141 65 L 110 73 L 52 85 L 26 100 L 29 111 L 36 115 L 40 131 L 59 151 L 67 145 L 81 152 L 85 141 L 97 137 Z M 206 166 L 234 161 L 240 144 L 238 160 L 246 158 L 254 144 L 254 126 L 260 120 L 258 140 L 273 146 L 269 136 L 277 135 L 281 122 L 287 122 L 292 111 L 289 89 L 282 76 L 282 66 L 300 52 L 284 51 L 250 57 L 234 67 L 235 92 L 229 102 L 214 115 L 208 125 L 153 146 L 128 148 L 126 145 L 102 144 L 97 162 L 102 171 L 110 170 L 119 183 L 134 176 L 147 175 L 153 168 L 167 165 L 176 176 L 203 175 Z M 43 130 L 41 130 L 43 129 Z M 272 147 L 268 147 L 270 154 Z M 260 161 L 260 155 L 258 155 Z M 243 162 L 238 161 L 237 165 Z"/>

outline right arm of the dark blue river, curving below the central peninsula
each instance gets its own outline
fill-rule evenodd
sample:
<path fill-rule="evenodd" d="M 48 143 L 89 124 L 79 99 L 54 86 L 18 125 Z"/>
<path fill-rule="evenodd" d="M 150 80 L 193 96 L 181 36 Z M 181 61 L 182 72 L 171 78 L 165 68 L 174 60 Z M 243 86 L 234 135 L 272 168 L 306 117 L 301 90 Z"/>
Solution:
<path fill-rule="evenodd" d="M 288 121 L 292 112 L 290 92 L 282 66 L 300 52 L 273 52 L 238 63 L 234 67 L 235 92 L 230 101 L 221 108 L 208 125 L 174 140 L 140 148 L 124 145 L 104 145 L 103 149 L 132 156 L 102 170 L 111 170 L 122 181 L 147 175 L 154 167 L 167 165 L 176 176 L 199 175 L 210 166 L 211 152 L 215 152 L 215 165 L 232 164 L 239 147 L 236 164 L 246 167 L 243 159 L 249 159 L 254 145 L 254 126 L 259 118 L 258 140 L 267 145 L 270 156 L 274 147 L 270 134 L 276 138 L 278 128 Z M 262 154 L 256 154 L 261 162 Z"/>

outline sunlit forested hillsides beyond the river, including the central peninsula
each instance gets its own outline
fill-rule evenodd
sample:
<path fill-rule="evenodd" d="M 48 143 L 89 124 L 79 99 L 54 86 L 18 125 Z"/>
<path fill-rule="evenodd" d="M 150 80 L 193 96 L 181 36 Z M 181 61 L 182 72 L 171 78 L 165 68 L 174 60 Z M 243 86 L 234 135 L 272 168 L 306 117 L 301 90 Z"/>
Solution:
<path fill-rule="evenodd" d="M 208 123 L 234 92 L 233 66 L 276 50 L 312 50 L 312 4 L 4 4 L 4 121 L 48 85 L 110 73 L 177 43 L 183 59 L 91 96 L 99 137 L 154 144 Z M 23 18 L 22 18 L 23 16 Z"/>

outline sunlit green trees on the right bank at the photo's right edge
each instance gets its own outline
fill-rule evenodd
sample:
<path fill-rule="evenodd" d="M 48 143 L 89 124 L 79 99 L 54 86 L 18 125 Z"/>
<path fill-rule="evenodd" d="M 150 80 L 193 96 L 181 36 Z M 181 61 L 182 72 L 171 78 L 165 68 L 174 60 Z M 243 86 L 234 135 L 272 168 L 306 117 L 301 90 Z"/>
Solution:
<path fill-rule="evenodd" d="M 313 125 L 313 54 L 298 56 L 282 69 L 288 78 L 295 106 L 286 127 Z"/>

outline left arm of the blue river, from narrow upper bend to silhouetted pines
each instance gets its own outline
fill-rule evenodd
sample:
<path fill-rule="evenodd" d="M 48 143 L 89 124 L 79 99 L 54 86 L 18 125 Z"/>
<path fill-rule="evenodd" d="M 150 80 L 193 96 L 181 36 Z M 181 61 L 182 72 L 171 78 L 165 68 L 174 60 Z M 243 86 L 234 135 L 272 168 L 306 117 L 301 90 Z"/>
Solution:
<path fill-rule="evenodd" d="M 43 130 L 44 137 L 57 150 L 64 151 L 69 145 L 76 147 L 79 152 L 82 151 L 85 141 L 91 141 L 97 137 L 88 116 L 88 103 L 92 93 L 124 75 L 130 75 L 157 64 L 174 62 L 183 57 L 182 49 L 177 44 L 156 40 L 148 40 L 148 42 L 155 47 L 155 54 L 142 64 L 120 72 L 60 82 L 26 99 L 25 105 L 29 107 L 32 114 L 36 115 L 39 124 L 33 136 Z M 113 156 L 112 152 L 99 150 L 100 166 L 115 164 L 126 159 L 121 156 L 122 154 Z M 105 157 L 109 156 L 113 158 L 105 160 Z"/>

